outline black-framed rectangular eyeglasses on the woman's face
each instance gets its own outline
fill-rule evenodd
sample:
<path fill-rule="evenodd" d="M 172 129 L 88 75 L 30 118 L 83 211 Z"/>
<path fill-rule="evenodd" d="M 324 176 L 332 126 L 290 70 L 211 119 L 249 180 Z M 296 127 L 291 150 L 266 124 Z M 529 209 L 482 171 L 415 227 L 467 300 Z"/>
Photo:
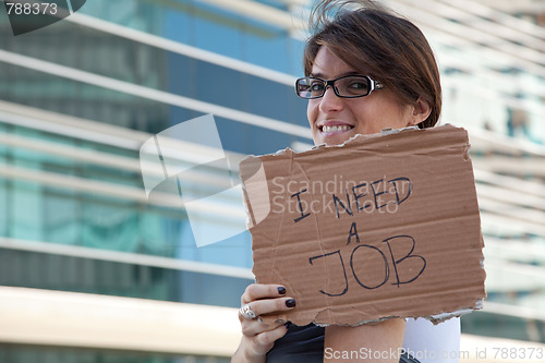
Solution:
<path fill-rule="evenodd" d="M 295 92 L 299 97 L 313 99 L 324 96 L 327 86 L 334 88 L 338 97 L 355 98 L 368 96 L 375 89 L 384 86 L 367 75 L 346 75 L 337 80 L 304 77 L 295 81 Z"/>

